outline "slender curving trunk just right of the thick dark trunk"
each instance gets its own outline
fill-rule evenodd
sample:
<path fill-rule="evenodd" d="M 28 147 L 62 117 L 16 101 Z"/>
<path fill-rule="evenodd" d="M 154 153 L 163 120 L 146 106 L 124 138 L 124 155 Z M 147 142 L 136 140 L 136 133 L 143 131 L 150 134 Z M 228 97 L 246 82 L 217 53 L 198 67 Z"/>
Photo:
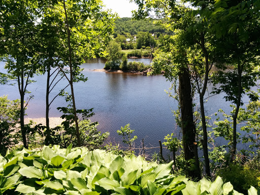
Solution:
<path fill-rule="evenodd" d="M 205 37 L 201 34 L 201 47 L 205 56 L 205 80 L 203 83 L 203 89 L 200 91 L 200 108 L 201 108 L 201 118 L 202 118 L 202 129 L 203 129 L 203 154 L 205 160 L 205 172 L 208 178 L 211 178 L 210 165 L 209 165 L 209 152 L 208 152 L 208 132 L 206 125 L 205 109 L 204 109 L 204 95 L 207 89 L 208 78 L 209 78 L 209 56 L 207 49 L 205 47 Z"/>

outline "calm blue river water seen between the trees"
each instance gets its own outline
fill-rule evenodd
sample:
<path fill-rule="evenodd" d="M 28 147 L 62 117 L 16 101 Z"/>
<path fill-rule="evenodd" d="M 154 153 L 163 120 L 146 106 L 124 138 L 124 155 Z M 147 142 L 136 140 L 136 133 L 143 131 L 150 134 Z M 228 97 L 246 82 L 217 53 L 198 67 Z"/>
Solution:
<path fill-rule="evenodd" d="M 133 60 L 147 64 L 150 62 L 150 59 L 145 58 L 128 59 Z M 100 123 L 100 131 L 110 132 L 112 141 L 120 141 L 116 131 L 129 123 L 131 129 L 135 129 L 134 135 L 138 136 L 136 147 L 141 145 L 143 138 L 146 146 L 158 146 L 158 140 L 163 141 L 167 134 L 178 134 L 179 128 L 176 127 L 172 113 L 172 110 L 177 109 L 177 102 L 165 92 L 171 86 L 165 77 L 91 71 L 103 69 L 104 64 L 102 59 L 88 60 L 82 64 L 83 74 L 88 77 L 88 81 L 75 84 L 77 109 L 94 108 L 95 115 L 91 121 Z M 0 72 L 4 72 L 3 67 L 4 62 L 0 62 Z M 37 82 L 28 86 L 34 99 L 29 102 L 26 117 L 45 117 L 46 76 L 40 75 L 34 79 Z M 66 85 L 67 81 L 63 80 L 51 95 L 55 96 Z M 16 86 L 0 85 L 0 89 L 0 95 L 8 94 L 11 100 L 19 98 Z M 211 115 L 219 108 L 229 112 L 229 105 L 223 100 L 222 94 L 212 96 L 206 103 L 207 114 Z M 61 113 L 56 108 L 62 106 L 66 106 L 66 102 L 58 97 L 51 105 L 50 117 L 60 117 Z"/>

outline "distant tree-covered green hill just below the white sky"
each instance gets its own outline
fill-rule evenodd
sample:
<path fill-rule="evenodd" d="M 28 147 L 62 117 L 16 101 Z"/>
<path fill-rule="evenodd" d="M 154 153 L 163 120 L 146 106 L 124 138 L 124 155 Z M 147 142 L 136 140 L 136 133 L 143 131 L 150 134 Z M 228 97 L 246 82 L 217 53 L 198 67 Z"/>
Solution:
<path fill-rule="evenodd" d="M 129 33 L 131 35 L 137 35 L 137 32 L 150 32 L 154 34 L 156 32 L 166 33 L 166 29 L 155 25 L 153 23 L 153 19 L 146 20 L 132 20 L 132 18 L 119 18 L 115 21 L 115 30 L 114 34 L 124 35 L 125 33 Z"/>

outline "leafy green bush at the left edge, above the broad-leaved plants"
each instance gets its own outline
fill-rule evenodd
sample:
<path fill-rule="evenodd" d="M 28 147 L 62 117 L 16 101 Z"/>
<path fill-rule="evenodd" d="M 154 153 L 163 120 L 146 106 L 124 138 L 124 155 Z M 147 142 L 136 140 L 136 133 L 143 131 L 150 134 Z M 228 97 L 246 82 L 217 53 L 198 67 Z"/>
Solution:
<path fill-rule="evenodd" d="M 19 123 L 20 101 L 8 100 L 8 96 L 0 97 L 0 154 L 18 142 L 15 138 L 16 125 Z"/>

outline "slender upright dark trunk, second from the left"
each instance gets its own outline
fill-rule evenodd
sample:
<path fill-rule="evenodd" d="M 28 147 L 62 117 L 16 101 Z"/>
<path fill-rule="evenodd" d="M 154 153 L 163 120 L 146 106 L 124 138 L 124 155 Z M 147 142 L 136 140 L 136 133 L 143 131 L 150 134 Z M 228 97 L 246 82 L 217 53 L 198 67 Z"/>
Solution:
<path fill-rule="evenodd" d="M 48 146 L 50 144 L 50 122 L 49 122 L 49 94 L 50 94 L 50 66 L 47 69 L 47 86 L 46 86 L 46 138 L 45 145 Z"/>

